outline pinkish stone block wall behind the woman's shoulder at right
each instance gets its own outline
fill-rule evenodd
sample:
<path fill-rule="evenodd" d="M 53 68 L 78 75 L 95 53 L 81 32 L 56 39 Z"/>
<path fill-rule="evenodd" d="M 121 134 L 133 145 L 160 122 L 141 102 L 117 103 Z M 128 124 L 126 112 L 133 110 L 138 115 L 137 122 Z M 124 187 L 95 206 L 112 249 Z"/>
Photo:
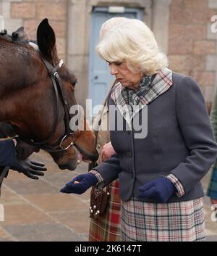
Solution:
<path fill-rule="evenodd" d="M 169 61 L 171 69 L 191 75 L 206 102 L 217 86 L 217 33 L 210 31 L 217 15 L 216 0 L 172 0 L 169 18 Z M 217 63 L 217 62 L 216 62 Z"/>

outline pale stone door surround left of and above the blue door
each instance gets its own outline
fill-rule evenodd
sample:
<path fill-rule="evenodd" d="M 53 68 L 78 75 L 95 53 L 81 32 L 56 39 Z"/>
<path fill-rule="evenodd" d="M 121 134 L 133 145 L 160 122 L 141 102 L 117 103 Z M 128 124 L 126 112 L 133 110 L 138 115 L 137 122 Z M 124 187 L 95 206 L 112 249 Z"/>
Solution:
<path fill-rule="evenodd" d="M 108 7 L 110 5 L 145 9 L 144 20 L 148 25 L 152 25 L 152 0 L 69 0 L 68 35 L 69 33 L 71 35 L 68 38 L 67 64 L 79 80 L 76 99 L 83 107 L 85 107 L 85 99 L 88 99 L 90 15 L 93 7 Z"/>

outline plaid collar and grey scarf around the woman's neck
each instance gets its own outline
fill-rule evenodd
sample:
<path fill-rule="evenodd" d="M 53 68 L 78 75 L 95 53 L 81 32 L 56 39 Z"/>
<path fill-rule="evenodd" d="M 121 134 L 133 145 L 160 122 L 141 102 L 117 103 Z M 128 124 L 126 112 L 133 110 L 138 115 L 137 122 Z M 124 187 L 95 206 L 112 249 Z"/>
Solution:
<path fill-rule="evenodd" d="M 169 90 L 172 83 L 172 71 L 163 67 L 157 74 L 143 77 L 140 86 L 135 90 L 125 88 L 120 82 L 116 83 L 111 99 L 131 127 L 132 118 L 143 107 L 147 107 L 150 102 Z"/>

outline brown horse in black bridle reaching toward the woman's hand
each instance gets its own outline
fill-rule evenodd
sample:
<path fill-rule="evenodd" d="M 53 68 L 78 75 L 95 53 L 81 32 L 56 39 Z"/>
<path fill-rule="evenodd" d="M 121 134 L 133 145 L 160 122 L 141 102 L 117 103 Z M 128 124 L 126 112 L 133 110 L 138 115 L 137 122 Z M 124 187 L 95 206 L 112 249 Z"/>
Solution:
<path fill-rule="evenodd" d="M 81 160 L 95 162 L 95 136 L 85 117 L 83 131 L 69 128 L 77 78 L 57 55 L 48 19 L 38 25 L 38 50 L 16 38 L 17 33 L 0 34 L 0 122 L 11 123 L 33 149 L 51 154 L 61 170 L 75 170 Z"/>

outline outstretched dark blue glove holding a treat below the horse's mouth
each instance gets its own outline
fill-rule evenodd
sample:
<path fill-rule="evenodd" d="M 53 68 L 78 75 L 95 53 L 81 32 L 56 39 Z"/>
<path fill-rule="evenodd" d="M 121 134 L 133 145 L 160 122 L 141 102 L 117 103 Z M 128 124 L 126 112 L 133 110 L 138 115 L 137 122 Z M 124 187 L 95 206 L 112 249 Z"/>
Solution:
<path fill-rule="evenodd" d="M 75 181 L 78 181 L 78 183 L 75 183 Z M 92 173 L 80 174 L 67 183 L 60 191 L 67 194 L 83 194 L 90 186 L 94 186 L 97 182 L 98 179 Z"/>

